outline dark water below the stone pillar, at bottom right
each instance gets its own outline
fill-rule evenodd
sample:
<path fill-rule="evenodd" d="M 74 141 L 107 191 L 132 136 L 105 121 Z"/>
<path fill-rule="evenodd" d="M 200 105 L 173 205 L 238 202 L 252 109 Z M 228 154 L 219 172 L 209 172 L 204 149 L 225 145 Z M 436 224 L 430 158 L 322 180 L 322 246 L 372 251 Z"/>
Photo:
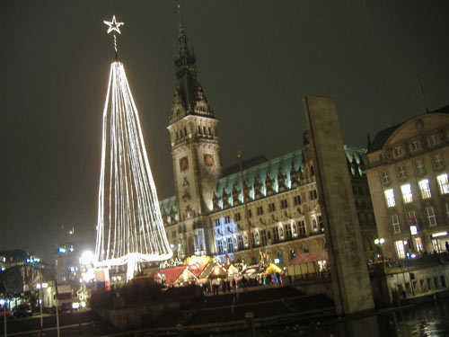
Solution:
<path fill-rule="evenodd" d="M 274 329 L 273 329 L 274 330 Z M 409 337 L 449 336 L 449 300 L 420 304 L 380 315 L 339 323 L 315 322 L 307 326 L 289 326 L 260 336 L 362 336 Z"/>

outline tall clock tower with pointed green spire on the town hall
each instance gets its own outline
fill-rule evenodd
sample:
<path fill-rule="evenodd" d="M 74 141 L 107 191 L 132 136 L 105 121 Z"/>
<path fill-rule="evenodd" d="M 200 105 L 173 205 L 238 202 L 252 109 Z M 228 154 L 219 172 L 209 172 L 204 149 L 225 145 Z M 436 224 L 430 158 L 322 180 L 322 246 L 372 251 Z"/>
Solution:
<path fill-rule="evenodd" d="M 176 84 L 167 129 L 172 144 L 179 220 L 188 236 L 186 253 L 210 253 L 213 242 L 208 240 L 207 215 L 212 210 L 216 181 L 222 173 L 218 120 L 199 84 L 196 58 L 193 49 L 189 49 L 181 17 L 178 42 L 174 57 Z"/>

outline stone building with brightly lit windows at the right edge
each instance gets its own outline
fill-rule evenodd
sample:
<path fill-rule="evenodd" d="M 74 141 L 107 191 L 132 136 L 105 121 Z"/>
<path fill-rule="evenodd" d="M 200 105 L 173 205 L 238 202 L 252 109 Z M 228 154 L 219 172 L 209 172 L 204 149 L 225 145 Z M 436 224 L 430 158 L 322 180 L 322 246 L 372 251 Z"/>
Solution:
<path fill-rule="evenodd" d="M 449 106 L 374 137 L 366 170 L 383 254 L 441 253 L 449 241 Z"/>

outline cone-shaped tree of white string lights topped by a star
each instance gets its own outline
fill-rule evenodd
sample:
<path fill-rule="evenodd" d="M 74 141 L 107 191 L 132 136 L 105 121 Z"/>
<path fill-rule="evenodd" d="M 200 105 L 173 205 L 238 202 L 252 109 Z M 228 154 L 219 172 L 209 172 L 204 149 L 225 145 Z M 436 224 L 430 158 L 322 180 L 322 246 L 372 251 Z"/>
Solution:
<path fill-rule="evenodd" d="M 172 257 L 154 180 L 146 155 L 138 111 L 123 64 L 117 61 L 115 31 L 123 22 L 106 22 L 114 32 L 116 61 L 103 110 L 101 173 L 98 196 L 97 268 L 128 264 L 132 279 L 139 262 Z"/>

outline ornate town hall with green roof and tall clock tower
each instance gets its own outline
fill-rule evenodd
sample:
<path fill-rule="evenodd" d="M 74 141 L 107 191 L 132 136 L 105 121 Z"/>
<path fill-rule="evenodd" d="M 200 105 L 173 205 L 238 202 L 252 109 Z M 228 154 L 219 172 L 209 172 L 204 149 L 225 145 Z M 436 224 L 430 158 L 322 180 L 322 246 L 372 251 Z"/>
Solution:
<path fill-rule="evenodd" d="M 176 195 L 160 201 L 174 257 L 209 254 L 251 261 L 250 240 L 254 257 L 280 263 L 297 254 L 325 250 L 307 134 L 295 152 L 243 162 L 243 189 L 239 165 L 223 168 L 218 120 L 199 84 L 196 58 L 181 23 L 178 40 L 176 87 L 167 128 Z M 365 253 L 372 258 L 377 235 L 364 173 L 366 151 L 345 146 L 345 152 Z"/>

